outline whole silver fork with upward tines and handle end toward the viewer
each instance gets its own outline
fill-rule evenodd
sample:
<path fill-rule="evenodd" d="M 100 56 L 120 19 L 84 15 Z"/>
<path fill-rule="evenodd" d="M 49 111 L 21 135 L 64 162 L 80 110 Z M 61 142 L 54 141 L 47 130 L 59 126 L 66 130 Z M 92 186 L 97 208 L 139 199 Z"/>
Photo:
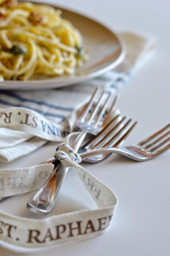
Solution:
<path fill-rule="evenodd" d="M 100 88 L 96 88 L 91 100 L 86 104 L 75 124 L 75 128 L 81 130 L 72 145 L 72 149 L 75 152 L 78 151 L 87 133 L 97 134 L 106 126 L 110 119 L 110 114 L 115 108 L 118 96 L 116 95 L 113 100 L 111 100 L 111 98 L 112 93 L 106 92 L 105 90 L 102 90 L 101 92 Z M 103 117 L 106 110 L 107 113 L 105 117 Z M 55 161 L 56 159 L 52 158 L 48 160 L 48 163 L 55 163 Z M 68 169 L 69 168 L 64 167 L 61 163 L 57 166 L 55 163 L 54 170 L 50 177 L 28 201 L 27 208 L 39 215 L 46 215 L 49 213 L 55 203 Z"/>

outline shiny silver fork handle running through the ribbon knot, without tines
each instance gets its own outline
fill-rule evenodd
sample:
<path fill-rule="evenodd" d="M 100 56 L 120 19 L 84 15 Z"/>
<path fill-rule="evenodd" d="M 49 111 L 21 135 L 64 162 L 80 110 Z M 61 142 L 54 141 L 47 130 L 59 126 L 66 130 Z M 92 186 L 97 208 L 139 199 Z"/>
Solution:
<path fill-rule="evenodd" d="M 76 137 L 72 144 L 72 149 L 75 152 L 78 151 L 85 136 L 86 132 L 82 131 Z M 45 181 L 43 186 L 41 186 L 35 195 L 28 201 L 27 208 L 31 212 L 38 215 L 46 215 L 51 211 L 68 169 L 69 168 L 63 166 L 61 163 L 54 167 L 51 175 Z"/>

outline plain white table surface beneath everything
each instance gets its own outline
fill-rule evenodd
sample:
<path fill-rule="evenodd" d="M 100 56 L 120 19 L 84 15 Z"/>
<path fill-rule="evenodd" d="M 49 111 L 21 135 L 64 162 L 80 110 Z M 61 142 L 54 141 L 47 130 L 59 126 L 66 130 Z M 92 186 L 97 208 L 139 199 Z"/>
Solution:
<path fill-rule="evenodd" d="M 116 30 L 146 31 L 157 36 L 159 43 L 156 53 L 121 91 L 118 107 L 122 113 L 139 122 L 127 144 L 145 138 L 170 122 L 170 2 L 65 0 L 63 3 L 62 0 L 58 0 L 57 3 L 83 11 Z M 55 145 L 44 146 L 13 163 L 1 163 L 0 168 L 36 164 L 50 157 L 54 148 Z M 112 156 L 96 165 L 83 165 L 118 197 L 118 208 L 110 228 L 104 235 L 94 239 L 44 249 L 31 255 L 169 255 L 170 151 L 143 163 Z M 81 193 L 82 186 L 76 179 L 74 172 L 68 173 L 57 207 L 54 209 L 57 213 L 84 209 L 88 204 L 93 205 L 90 197 L 86 193 Z M 26 202 L 30 196 L 31 193 L 4 200 L 0 209 L 15 215 L 32 216 L 26 209 Z M 67 206 L 68 200 L 72 200 L 72 209 Z M 79 202 L 79 206 L 76 202 Z M 7 255 L 13 256 L 18 253 L 0 248 L 0 256 Z"/>

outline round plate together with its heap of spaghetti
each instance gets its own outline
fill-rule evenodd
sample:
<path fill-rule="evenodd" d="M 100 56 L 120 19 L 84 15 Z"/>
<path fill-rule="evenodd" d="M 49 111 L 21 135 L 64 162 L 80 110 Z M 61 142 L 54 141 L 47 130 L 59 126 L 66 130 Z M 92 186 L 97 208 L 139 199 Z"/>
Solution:
<path fill-rule="evenodd" d="M 0 0 L 0 89 L 47 89 L 84 82 L 125 56 L 118 34 L 72 10 Z"/>

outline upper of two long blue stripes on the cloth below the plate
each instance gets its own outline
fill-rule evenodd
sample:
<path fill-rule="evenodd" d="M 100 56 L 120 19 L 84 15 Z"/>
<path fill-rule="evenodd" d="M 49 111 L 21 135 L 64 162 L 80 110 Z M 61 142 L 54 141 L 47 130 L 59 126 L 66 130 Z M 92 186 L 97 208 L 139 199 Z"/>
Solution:
<path fill-rule="evenodd" d="M 64 110 L 64 111 L 69 111 L 69 112 L 74 111 L 74 108 L 72 108 L 72 107 L 62 107 L 62 106 L 56 106 L 56 105 L 53 105 L 53 104 L 47 103 L 47 102 L 30 100 L 30 99 L 26 99 L 25 97 L 22 97 L 16 93 L 11 93 L 11 92 L 6 92 L 6 91 L 2 91 L 1 93 L 11 96 L 17 100 L 20 100 L 21 102 L 31 102 L 31 103 L 35 103 L 37 105 L 44 105 L 44 106 L 50 107 L 52 109 L 57 109 L 57 110 Z"/>

